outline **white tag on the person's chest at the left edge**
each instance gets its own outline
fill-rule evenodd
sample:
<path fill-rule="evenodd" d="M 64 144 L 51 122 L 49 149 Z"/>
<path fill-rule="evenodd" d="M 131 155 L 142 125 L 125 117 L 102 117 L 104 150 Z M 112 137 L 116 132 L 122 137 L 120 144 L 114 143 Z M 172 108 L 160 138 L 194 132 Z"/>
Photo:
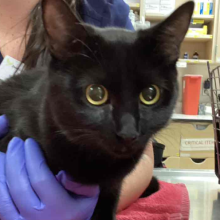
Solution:
<path fill-rule="evenodd" d="M 24 64 L 20 61 L 6 56 L 0 65 L 0 80 L 6 80 L 14 74 L 19 74 L 23 69 Z"/>

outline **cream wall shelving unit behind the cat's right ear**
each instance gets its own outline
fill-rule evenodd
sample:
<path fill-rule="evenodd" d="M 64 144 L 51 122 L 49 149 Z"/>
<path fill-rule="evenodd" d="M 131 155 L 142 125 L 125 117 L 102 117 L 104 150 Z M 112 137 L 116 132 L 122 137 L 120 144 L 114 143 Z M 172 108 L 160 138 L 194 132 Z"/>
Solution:
<path fill-rule="evenodd" d="M 140 13 L 140 18 L 144 17 L 146 21 L 150 21 L 152 26 L 163 21 L 168 16 L 159 13 L 146 13 L 145 0 L 126 1 L 130 1 L 131 8 Z M 175 8 L 178 8 L 187 1 L 188 0 L 176 0 Z M 192 19 L 204 20 L 204 24 L 208 26 L 208 35 L 186 36 L 181 47 L 180 58 L 183 58 L 184 53 L 188 52 L 189 58 L 192 59 L 193 54 L 198 52 L 201 62 L 197 62 L 197 64 L 205 63 L 208 60 L 212 61 L 212 63 L 220 63 L 220 50 L 216 51 L 218 49 L 217 45 L 220 44 L 219 0 L 214 0 L 213 15 L 193 15 Z M 196 64 L 191 60 L 189 60 L 188 63 Z"/>

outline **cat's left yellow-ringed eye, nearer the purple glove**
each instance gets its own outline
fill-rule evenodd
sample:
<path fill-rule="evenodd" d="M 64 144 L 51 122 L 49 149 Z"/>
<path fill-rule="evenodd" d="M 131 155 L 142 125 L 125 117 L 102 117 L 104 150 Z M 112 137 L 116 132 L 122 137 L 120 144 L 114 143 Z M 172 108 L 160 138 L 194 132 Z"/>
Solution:
<path fill-rule="evenodd" d="M 90 85 L 86 89 L 86 98 L 92 105 L 103 105 L 108 100 L 108 91 L 101 85 Z"/>

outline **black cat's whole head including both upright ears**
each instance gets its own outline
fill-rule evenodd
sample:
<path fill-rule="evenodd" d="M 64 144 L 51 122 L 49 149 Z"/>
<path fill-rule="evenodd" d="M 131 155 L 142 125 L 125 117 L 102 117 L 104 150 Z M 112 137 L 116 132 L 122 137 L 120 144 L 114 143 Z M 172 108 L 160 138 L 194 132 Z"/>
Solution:
<path fill-rule="evenodd" d="M 83 24 L 62 0 L 43 0 L 42 7 L 52 55 L 50 108 L 74 146 L 66 160 L 81 154 L 100 169 L 109 158 L 137 160 L 173 112 L 176 62 L 194 3 L 138 32 Z"/>

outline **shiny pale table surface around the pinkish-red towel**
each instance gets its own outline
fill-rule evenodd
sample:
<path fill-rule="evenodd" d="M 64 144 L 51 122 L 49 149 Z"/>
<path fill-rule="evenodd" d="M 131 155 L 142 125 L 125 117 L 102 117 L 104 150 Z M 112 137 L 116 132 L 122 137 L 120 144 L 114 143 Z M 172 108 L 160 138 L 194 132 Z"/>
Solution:
<path fill-rule="evenodd" d="M 220 185 L 214 171 L 155 169 L 168 183 L 184 183 L 190 197 L 190 220 L 220 220 Z"/>

